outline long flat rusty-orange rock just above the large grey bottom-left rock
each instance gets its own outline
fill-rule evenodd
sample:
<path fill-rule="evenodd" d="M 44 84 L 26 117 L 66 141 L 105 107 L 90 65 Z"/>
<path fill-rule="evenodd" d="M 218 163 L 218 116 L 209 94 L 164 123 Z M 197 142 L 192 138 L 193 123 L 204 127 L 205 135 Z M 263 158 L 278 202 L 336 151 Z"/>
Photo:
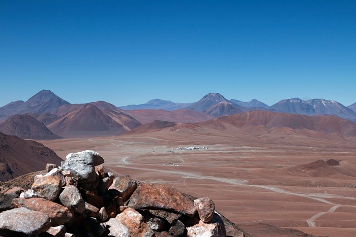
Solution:
<path fill-rule="evenodd" d="M 12 205 L 16 208 L 23 207 L 47 214 L 52 226 L 63 225 L 74 217 L 73 212 L 68 208 L 41 197 L 15 198 L 12 200 Z"/>

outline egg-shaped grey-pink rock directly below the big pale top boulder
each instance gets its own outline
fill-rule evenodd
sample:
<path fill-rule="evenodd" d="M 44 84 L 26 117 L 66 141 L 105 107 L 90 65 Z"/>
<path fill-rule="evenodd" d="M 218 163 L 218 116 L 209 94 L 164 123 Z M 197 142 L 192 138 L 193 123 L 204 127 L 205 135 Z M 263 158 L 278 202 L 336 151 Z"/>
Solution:
<path fill-rule="evenodd" d="M 75 213 L 82 214 L 85 211 L 85 202 L 77 187 L 73 185 L 64 188 L 60 195 L 60 200 L 63 206 L 73 210 Z"/>

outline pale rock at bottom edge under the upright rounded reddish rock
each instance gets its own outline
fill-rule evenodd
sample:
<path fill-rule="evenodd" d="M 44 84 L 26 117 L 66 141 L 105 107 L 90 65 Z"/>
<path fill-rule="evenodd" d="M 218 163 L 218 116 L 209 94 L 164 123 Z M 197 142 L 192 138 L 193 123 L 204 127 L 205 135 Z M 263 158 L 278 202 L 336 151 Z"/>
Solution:
<path fill-rule="evenodd" d="M 221 226 L 218 223 L 207 224 L 202 221 L 191 227 L 187 227 L 187 237 L 214 236 L 225 237 Z"/>

